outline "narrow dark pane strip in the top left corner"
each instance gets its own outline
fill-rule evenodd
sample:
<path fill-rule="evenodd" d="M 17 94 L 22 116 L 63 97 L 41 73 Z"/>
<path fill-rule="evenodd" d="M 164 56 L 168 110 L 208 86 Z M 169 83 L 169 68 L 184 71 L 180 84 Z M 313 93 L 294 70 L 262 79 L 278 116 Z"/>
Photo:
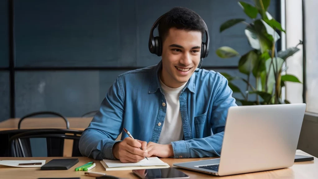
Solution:
<path fill-rule="evenodd" d="M 0 68 L 9 67 L 9 0 L 0 1 Z"/>

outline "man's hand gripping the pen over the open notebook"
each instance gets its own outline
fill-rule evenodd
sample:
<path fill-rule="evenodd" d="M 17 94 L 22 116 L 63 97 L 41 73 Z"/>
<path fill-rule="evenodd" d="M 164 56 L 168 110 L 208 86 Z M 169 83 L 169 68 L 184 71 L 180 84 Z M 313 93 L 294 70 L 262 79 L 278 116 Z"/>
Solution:
<path fill-rule="evenodd" d="M 142 147 L 142 150 L 140 147 Z M 123 141 L 114 144 L 113 155 L 123 163 L 141 161 L 148 155 L 147 142 L 127 137 Z"/>

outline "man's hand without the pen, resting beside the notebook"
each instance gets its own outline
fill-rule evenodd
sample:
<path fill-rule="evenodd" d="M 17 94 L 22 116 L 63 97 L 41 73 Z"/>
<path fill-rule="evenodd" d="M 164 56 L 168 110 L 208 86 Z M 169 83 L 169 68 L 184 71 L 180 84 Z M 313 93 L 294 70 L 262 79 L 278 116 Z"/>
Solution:
<path fill-rule="evenodd" d="M 173 156 L 173 148 L 171 144 L 163 145 L 154 142 L 149 142 L 147 144 L 148 156 L 155 155 L 161 158 L 168 158 Z"/>

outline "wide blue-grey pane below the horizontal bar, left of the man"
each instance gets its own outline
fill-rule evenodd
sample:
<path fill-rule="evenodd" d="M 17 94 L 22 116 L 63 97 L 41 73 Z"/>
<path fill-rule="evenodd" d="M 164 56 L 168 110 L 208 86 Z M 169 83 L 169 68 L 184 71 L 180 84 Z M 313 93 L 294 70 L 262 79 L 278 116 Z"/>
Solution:
<path fill-rule="evenodd" d="M 109 87 L 125 71 L 16 72 L 16 117 L 55 111 L 81 117 L 98 110 Z"/>

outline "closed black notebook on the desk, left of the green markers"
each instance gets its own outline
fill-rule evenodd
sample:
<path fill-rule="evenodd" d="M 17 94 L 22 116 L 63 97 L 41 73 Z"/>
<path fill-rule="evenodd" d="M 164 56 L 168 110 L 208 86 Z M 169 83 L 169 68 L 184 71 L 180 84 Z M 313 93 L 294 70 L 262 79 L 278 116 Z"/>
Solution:
<path fill-rule="evenodd" d="M 68 170 L 79 162 L 79 159 L 53 159 L 41 167 L 41 170 Z"/>

